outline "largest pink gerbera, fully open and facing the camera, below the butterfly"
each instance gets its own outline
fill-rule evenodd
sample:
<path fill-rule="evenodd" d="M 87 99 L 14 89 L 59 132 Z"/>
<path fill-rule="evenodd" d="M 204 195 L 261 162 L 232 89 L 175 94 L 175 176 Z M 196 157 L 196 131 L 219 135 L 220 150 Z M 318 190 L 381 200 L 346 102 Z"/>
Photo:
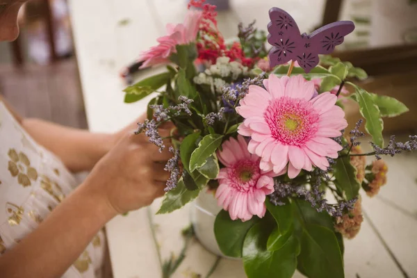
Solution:
<path fill-rule="evenodd" d="M 341 145 L 331 138 L 347 126 L 337 97 L 323 92 L 313 98 L 314 84 L 302 76 L 278 78 L 270 74 L 265 89 L 250 85 L 236 111 L 245 120 L 238 133 L 251 136 L 248 150 L 261 156 L 262 170 L 297 177 L 312 166 L 326 170 L 326 156 L 337 158 Z"/>

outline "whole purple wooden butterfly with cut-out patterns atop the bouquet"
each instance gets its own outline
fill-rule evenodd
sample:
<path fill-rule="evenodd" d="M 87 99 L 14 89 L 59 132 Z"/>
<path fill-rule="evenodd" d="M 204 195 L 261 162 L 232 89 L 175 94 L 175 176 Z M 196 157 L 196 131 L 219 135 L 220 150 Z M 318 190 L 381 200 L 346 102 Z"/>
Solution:
<path fill-rule="evenodd" d="M 297 60 L 305 72 L 318 65 L 318 54 L 330 54 L 343 42 L 345 35 L 354 30 L 350 21 L 333 22 L 307 35 L 300 33 L 295 20 L 285 10 L 269 11 L 268 42 L 272 45 L 268 56 L 270 67 Z"/>

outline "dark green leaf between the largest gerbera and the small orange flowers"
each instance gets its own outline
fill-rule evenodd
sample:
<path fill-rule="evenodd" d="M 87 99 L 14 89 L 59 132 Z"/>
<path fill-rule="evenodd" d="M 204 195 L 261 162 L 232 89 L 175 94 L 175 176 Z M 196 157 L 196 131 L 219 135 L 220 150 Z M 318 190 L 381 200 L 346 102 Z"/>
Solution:
<path fill-rule="evenodd" d="M 357 197 L 361 184 L 357 179 L 357 169 L 350 163 L 350 156 L 337 158 L 333 173 L 336 178 L 336 187 L 345 193 L 346 198 Z"/>

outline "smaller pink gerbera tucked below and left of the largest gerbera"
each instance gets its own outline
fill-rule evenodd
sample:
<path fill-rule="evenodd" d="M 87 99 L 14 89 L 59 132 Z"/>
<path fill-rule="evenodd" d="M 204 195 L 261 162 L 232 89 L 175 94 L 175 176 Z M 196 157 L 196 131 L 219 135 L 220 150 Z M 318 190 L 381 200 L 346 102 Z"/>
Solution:
<path fill-rule="evenodd" d="M 261 158 L 247 151 L 247 142 L 242 136 L 223 142 L 218 158 L 225 166 L 220 169 L 220 186 L 215 197 L 218 205 L 229 211 L 230 218 L 247 221 L 252 215 L 265 215 L 265 196 L 274 192 L 276 174 L 259 169 Z"/>

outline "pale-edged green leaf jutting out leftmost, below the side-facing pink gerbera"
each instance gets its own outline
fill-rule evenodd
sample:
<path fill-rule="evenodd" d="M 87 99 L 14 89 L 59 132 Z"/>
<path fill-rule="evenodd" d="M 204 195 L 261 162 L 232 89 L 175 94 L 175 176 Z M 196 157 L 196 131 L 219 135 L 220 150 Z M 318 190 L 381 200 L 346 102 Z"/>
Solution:
<path fill-rule="evenodd" d="M 143 99 L 155 90 L 161 88 L 170 79 L 170 72 L 163 72 L 162 74 L 156 74 L 148 77 L 147 79 L 143 79 L 142 81 L 139 81 L 138 83 L 135 83 L 123 90 L 123 92 L 126 92 L 124 102 L 130 104 Z"/>

